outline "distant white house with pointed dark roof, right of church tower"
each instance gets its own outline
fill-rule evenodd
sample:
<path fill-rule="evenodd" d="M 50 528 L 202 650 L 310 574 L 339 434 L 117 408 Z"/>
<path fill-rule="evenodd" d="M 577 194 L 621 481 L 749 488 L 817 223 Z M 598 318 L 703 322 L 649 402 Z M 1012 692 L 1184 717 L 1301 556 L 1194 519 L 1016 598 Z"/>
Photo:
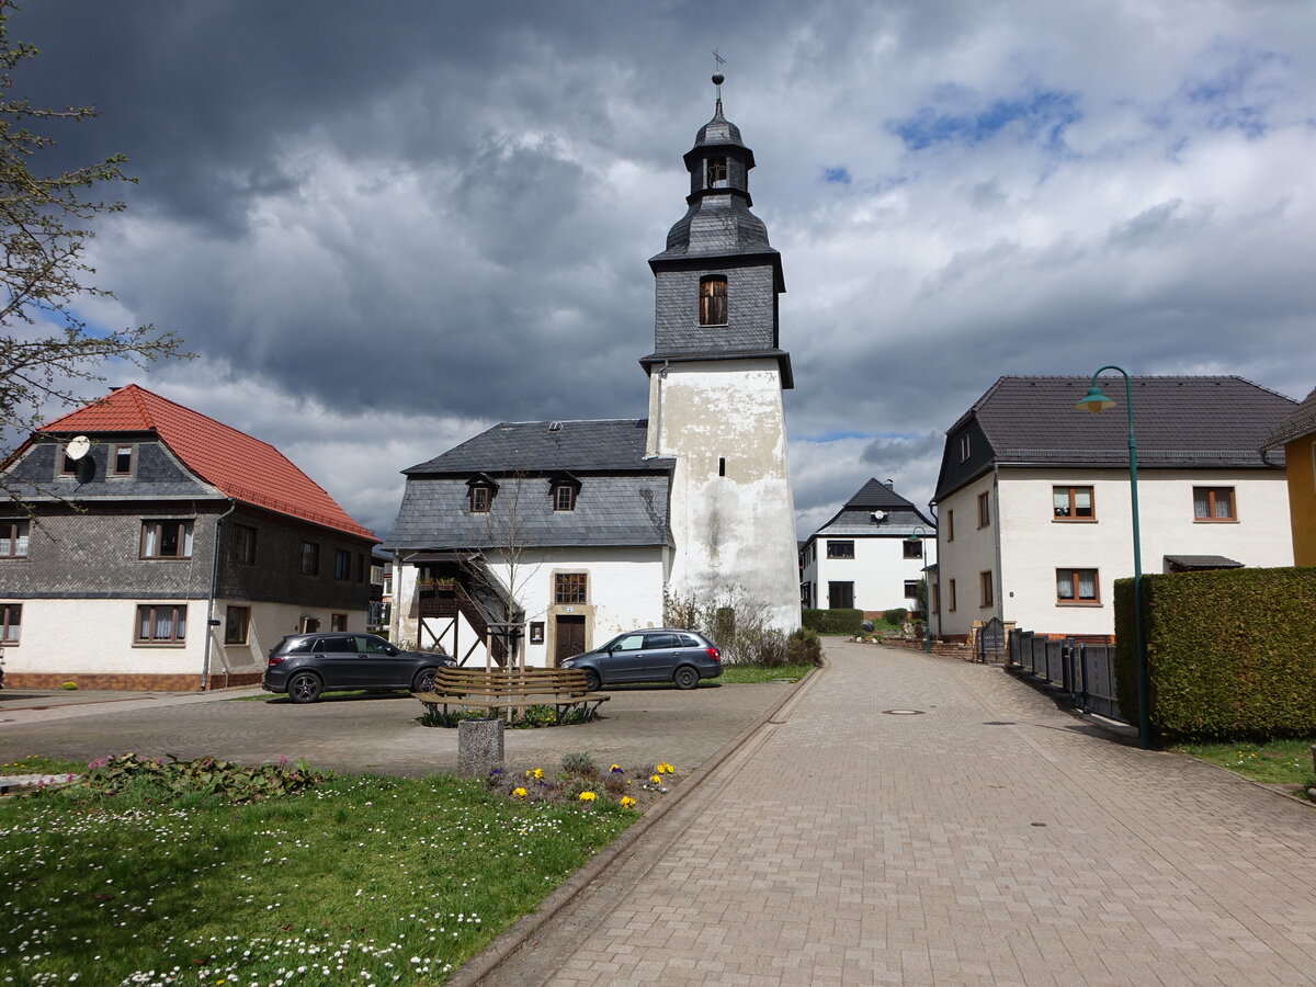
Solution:
<path fill-rule="evenodd" d="M 870 479 L 804 542 L 800 599 L 819 609 L 917 609 L 937 526 L 888 483 Z"/>

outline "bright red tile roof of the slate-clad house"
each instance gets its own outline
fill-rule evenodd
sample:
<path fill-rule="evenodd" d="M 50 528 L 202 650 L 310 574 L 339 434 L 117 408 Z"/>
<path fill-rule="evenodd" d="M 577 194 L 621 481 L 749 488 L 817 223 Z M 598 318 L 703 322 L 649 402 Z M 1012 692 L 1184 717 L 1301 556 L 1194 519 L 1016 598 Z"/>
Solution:
<path fill-rule="evenodd" d="M 154 432 L 225 496 L 361 538 L 375 538 L 268 442 L 129 384 L 41 428 L 42 432 Z"/>

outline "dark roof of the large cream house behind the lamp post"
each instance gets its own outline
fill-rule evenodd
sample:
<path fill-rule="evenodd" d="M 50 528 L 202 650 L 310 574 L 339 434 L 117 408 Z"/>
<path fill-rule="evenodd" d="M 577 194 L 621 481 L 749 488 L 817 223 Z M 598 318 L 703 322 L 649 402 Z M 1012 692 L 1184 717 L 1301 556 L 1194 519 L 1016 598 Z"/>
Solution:
<path fill-rule="evenodd" d="M 1128 466 L 1128 417 L 1123 378 L 1100 379 L 1119 403 L 1101 415 L 1075 411 L 1091 376 L 1003 376 L 946 433 L 948 454 L 937 499 L 1000 466 Z M 1266 468 L 1282 457 L 1261 458 L 1261 445 L 1296 403 L 1241 376 L 1136 376 L 1133 428 L 1138 466 Z M 962 429 L 976 428 L 990 455 L 971 471 L 949 462 Z"/>

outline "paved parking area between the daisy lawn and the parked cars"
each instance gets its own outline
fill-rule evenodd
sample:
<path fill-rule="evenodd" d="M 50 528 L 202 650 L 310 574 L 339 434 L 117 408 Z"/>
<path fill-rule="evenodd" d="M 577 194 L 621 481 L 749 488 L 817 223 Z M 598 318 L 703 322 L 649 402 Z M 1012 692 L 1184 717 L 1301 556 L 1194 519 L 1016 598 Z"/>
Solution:
<path fill-rule="evenodd" d="M 638 766 L 667 761 L 690 771 L 755 722 L 791 686 L 705 683 L 692 692 L 671 687 L 617 688 L 603 719 L 576 726 L 508 730 L 509 766 L 553 766 L 563 754 L 588 750 L 597 759 Z M 404 694 L 326 696 L 309 705 L 254 695 L 105 694 L 72 703 L 64 694 L 0 704 L 0 763 L 32 754 L 91 761 L 107 754 L 213 755 L 259 765 L 305 758 L 320 769 L 422 778 L 457 770 L 457 730 L 416 722 L 424 709 Z M 3 695 L 3 694 L 0 694 Z"/>

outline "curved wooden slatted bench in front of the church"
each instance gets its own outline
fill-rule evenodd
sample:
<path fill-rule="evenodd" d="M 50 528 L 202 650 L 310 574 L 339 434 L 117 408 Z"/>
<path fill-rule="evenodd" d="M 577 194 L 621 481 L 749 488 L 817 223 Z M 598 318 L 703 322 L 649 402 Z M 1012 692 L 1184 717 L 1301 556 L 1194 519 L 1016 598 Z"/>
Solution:
<path fill-rule="evenodd" d="M 504 709 L 524 712 L 530 705 L 551 705 L 559 724 L 576 708 L 588 722 L 612 699 L 591 692 L 586 674 L 576 669 L 440 669 L 428 692 L 412 695 L 425 704 L 426 712 L 445 721 L 449 707 L 488 709 L 490 716 L 499 716 Z"/>

